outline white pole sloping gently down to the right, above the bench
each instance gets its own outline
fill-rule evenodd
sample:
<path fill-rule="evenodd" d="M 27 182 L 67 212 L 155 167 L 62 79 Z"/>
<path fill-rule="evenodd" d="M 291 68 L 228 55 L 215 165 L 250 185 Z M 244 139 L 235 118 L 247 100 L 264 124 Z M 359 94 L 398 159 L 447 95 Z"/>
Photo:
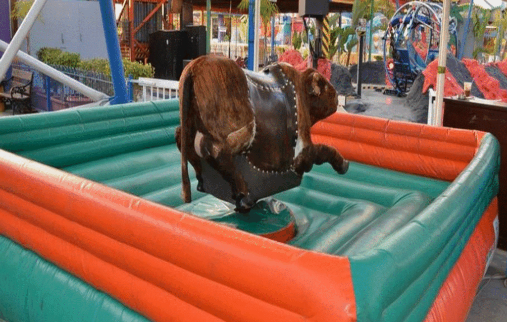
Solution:
<path fill-rule="evenodd" d="M 8 47 L 9 44 L 6 42 L 0 40 L 0 50 L 5 50 Z M 94 100 L 101 100 L 104 98 L 108 98 L 109 96 L 101 93 L 97 90 L 94 90 L 93 88 L 90 88 L 83 83 L 80 83 L 76 81 L 75 79 L 61 73 L 61 71 L 56 70 L 55 68 L 43 63 L 42 61 L 39 61 L 32 56 L 22 52 L 18 51 L 16 56 L 25 64 L 29 65 L 30 67 L 39 70 L 42 74 L 47 75 L 51 77 L 52 79 L 67 85 L 68 87 L 84 94 L 87 97 L 90 97 Z"/>

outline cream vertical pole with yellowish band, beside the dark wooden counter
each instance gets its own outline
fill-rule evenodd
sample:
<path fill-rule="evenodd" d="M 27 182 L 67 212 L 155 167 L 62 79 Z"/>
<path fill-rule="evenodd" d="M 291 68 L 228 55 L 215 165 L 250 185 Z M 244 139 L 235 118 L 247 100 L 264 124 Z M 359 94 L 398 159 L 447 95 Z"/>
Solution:
<path fill-rule="evenodd" d="M 434 103 L 433 125 L 442 126 L 443 104 L 444 104 L 444 84 L 445 71 L 447 63 L 447 43 L 449 41 L 449 10 L 450 0 L 444 0 L 442 8 L 442 27 L 440 28 L 439 60 L 437 67 L 437 98 Z"/>

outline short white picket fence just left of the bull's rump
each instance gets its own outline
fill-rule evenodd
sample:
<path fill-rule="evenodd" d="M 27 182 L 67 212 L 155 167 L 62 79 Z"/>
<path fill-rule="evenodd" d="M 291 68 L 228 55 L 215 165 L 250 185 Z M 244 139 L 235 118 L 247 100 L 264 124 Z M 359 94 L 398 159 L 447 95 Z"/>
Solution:
<path fill-rule="evenodd" d="M 136 101 L 146 102 L 178 97 L 178 81 L 139 77 L 130 82 L 142 87 L 140 95 L 134 97 Z"/>

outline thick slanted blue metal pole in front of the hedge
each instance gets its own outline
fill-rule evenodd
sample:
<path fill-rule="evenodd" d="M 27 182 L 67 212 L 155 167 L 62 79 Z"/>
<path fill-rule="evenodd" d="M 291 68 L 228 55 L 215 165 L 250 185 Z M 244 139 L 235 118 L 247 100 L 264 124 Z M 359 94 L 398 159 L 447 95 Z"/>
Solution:
<path fill-rule="evenodd" d="M 113 1 L 99 0 L 99 5 L 102 15 L 102 27 L 104 28 L 105 45 L 107 47 L 107 57 L 109 58 L 111 78 L 115 89 L 115 98 L 111 101 L 111 104 L 127 103 L 129 101 L 127 84 L 125 82 L 125 72 L 120 52 L 120 42 L 118 41 L 118 32 L 116 30 Z"/>

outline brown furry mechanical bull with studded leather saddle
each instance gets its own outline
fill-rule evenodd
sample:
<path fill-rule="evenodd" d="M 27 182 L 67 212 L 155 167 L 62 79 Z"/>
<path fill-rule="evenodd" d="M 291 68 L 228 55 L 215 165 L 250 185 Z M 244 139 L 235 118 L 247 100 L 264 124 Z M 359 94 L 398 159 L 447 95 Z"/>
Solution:
<path fill-rule="evenodd" d="M 241 212 L 298 186 L 313 164 L 329 162 L 345 173 L 348 161 L 310 137 L 311 126 L 335 113 L 337 103 L 333 86 L 314 69 L 300 73 L 278 63 L 253 73 L 220 56 L 193 60 L 179 81 L 184 201 L 192 200 L 187 161 L 198 191 Z"/>

